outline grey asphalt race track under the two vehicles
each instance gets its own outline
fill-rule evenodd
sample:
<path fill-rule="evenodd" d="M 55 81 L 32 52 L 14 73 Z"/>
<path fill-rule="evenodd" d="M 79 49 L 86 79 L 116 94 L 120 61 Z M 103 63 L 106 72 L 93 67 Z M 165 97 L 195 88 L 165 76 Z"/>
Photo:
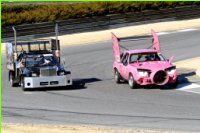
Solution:
<path fill-rule="evenodd" d="M 200 56 L 200 30 L 160 35 L 165 57 Z M 146 48 L 150 40 L 126 42 Z M 200 131 L 200 95 L 157 86 L 115 84 L 111 42 L 62 48 L 74 86 L 23 92 L 10 87 L 3 55 L 3 123 L 89 124 L 116 128 Z M 193 71 L 180 72 L 188 82 Z M 190 82 L 188 82 L 190 83 Z M 197 88 L 197 89 L 200 89 Z"/>

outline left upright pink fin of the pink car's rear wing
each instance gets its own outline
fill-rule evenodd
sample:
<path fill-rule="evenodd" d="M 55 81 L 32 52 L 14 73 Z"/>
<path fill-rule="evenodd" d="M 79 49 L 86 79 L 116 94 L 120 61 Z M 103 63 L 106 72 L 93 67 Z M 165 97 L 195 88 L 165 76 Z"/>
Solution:
<path fill-rule="evenodd" d="M 115 36 L 114 33 L 111 33 L 111 34 L 112 34 L 114 60 L 119 63 L 121 61 L 121 59 L 120 59 L 119 41 L 118 41 L 118 38 Z"/>

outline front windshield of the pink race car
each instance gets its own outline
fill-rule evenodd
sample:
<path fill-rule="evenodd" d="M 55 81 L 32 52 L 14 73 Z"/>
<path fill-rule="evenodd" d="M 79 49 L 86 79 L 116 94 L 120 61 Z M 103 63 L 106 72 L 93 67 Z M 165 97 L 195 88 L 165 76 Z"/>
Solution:
<path fill-rule="evenodd" d="M 137 53 L 131 54 L 130 63 L 145 61 L 165 61 L 165 58 L 160 53 Z"/>

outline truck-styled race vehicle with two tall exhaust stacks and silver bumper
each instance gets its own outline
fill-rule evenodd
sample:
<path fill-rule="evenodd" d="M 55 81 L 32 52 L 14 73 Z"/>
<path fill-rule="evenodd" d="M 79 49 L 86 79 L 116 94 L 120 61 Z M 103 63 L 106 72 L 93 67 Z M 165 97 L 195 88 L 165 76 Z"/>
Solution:
<path fill-rule="evenodd" d="M 6 43 L 7 68 L 11 85 L 25 88 L 41 88 L 72 85 L 71 72 L 60 64 L 58 25 L 56 39 L 18 40 Z"/>

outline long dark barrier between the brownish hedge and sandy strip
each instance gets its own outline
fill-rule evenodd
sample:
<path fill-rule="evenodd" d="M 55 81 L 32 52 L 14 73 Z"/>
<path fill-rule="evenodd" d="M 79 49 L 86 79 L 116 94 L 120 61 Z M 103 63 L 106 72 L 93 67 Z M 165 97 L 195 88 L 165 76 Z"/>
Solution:
<path fill-rule="evenodd" d="M 59 35 L 99 31 L 123 26 L 138 25 L 159 21 L 200 18 L 200 6 L 184 6 L 162 10 L 148 10 L 124 14 L 112 14 L 90 18 L 69 19 L 57 22 L 44 22 L 15 26 L 18 40 L 55 36 L 55 23 Z M 2 41 L 13 40 L 12 27 L 2 28 Z"/>

